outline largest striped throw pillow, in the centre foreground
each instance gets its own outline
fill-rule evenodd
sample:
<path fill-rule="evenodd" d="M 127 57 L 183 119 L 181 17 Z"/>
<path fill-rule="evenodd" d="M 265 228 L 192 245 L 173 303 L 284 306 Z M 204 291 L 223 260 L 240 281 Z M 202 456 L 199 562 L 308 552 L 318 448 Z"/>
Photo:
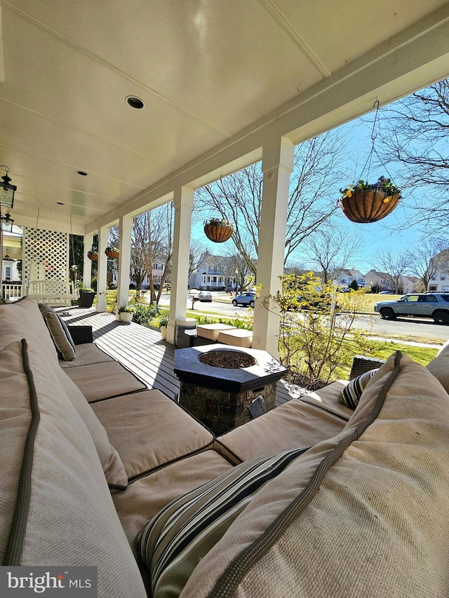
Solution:
<path fill-rule="evenodd" d="M 262 456 L 223 473 L 161 510 L 136 538 L 151 573 L 152 597 L 182 592 L 196 565 L 222 538 L 258 490 L 307 449 Z"/>

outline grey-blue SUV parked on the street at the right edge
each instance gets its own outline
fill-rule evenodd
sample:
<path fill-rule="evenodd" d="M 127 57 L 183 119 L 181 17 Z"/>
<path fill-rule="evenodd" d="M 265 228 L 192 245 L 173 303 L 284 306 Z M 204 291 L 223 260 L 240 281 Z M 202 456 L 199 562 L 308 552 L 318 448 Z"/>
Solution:
<path fill-rule="evenodd" d="M 415 315 L 418 318 L 434 318 L 437 324 L 449 324 L 449 294 L 408 294 L 397 301 L 379 301 L 374 311 L 378 311 L 385 320 L 396 320 L 398 315 Z"/>

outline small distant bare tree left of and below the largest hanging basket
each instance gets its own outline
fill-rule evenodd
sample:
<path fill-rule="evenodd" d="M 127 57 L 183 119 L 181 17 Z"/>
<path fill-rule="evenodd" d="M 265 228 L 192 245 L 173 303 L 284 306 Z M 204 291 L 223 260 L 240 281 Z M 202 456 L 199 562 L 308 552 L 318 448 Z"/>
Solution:
<path fill-rule="evenodd" d="M 361 244 L 359 233 L 348 235 L 347 231 L 330 224 L 329 221 L 304 243 L 310 263 L 321 270 L 326 285 L 330 280 L 330 273 L 345 268 L 349 261 L 356 257 Z"/>

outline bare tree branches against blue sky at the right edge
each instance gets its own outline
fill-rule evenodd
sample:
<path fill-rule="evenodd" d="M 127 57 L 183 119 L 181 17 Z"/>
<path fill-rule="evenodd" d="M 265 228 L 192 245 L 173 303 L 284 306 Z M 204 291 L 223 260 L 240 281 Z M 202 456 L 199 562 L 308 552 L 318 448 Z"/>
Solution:
<path fill-rule="evenodd" d="M 390 104 L 380 116 L 380 160 L 395 163 L 403 189 L 417 190 L 410 224 L 439 229 L 449 217 L 449 79 Z"/>

